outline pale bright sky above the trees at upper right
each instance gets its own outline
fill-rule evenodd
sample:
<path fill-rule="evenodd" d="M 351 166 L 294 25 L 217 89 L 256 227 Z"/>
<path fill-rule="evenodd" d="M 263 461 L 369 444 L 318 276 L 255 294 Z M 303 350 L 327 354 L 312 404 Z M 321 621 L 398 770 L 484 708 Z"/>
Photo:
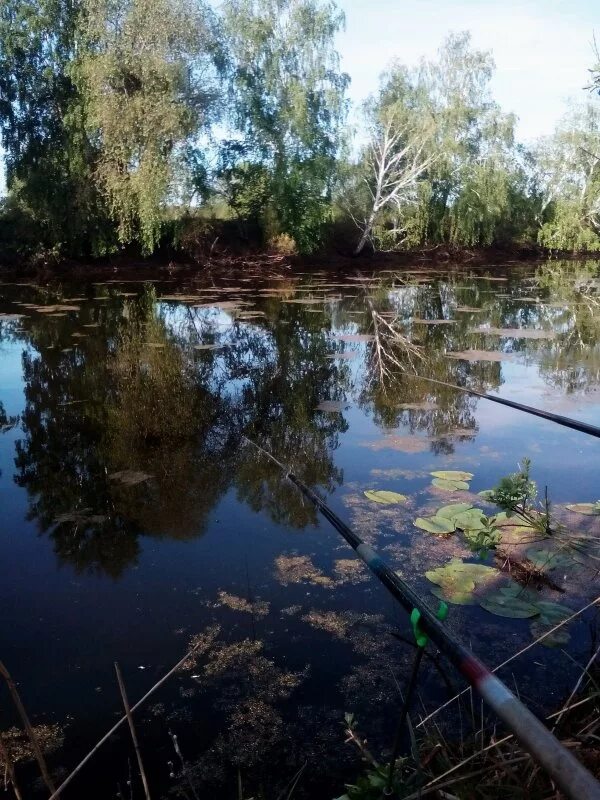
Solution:
<path fill-rule="evenodd" d="M 517 114 L 517 136 L 528 142 L 552 132 L 570 99 L 585 98 L 594 33 L 600 47 L 600 0 L 338 0 L 338 6 L 346 15 L 338 49 L 352 79 L 351 122 L 394 59 L 415 64 L 434 56 L 450 31 L 469 30 L 475 47 L 492 50 L 493 94 L 504 111 Z M 0 164 L 0 195 L 3 184 Z"/>

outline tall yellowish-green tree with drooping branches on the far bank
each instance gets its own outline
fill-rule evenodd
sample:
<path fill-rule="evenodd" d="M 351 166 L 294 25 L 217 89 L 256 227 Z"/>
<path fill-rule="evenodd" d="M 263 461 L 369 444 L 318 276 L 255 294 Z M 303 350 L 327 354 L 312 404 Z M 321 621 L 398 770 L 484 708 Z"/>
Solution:
<path fill-rule="evenodd" d="M 77 64 L 95 179 L 121 243 L 156 246 L 216 114 L 220 57 L 201 0 L 83 0 Z"/>

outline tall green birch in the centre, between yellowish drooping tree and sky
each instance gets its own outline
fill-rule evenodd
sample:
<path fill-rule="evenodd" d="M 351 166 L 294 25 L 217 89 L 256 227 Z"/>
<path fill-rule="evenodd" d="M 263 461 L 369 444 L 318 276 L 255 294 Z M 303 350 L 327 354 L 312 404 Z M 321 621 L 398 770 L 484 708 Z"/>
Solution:
<path fill-rule="evenodd" d="M 229 163 L 229 185 L 249 181 L 244 202 L 261 209 L 267 233 L 310 251 L 329 213 L 346 111 L 348 77 L 334 48 L 343 15 L 319 0 L 227 0 L 223 21 L 233 122 L 245 145 Z"/>

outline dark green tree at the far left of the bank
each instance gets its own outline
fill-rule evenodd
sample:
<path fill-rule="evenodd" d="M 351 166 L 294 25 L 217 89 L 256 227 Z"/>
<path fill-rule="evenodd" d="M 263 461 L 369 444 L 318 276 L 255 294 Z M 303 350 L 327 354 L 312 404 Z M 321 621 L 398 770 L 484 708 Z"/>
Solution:
<path fill-rule="evenodd" d="M 25 231 L 31 247 L 94 254 L 106 249 L 110 229 L 72 80 L 78 19 L 75 0 L 5 0 L 0 8 L 6 227 Z"/>

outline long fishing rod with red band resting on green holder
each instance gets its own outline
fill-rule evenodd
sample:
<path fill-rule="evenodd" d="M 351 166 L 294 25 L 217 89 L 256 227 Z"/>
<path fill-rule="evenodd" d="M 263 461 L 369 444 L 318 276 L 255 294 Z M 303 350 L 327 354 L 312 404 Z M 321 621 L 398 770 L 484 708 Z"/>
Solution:
<path fill-rule="evenodd" d="M 419 629 L 429 636 L 448 660 L 494 709 L 523 748 L 543 767 L 571 800 L 600 800 L 600 783 L 520 700 L 467 647 L 455 639 L 421 598 L 384 562 L 381 556 L 349 528 L 324 502 L 275 456 L 242 438 L 273 461 L 302 494 L 340 533 L 356 554 L 409 614 L 418 612 Z M 413 616 L 414 618 L 414 616 Z"/>

